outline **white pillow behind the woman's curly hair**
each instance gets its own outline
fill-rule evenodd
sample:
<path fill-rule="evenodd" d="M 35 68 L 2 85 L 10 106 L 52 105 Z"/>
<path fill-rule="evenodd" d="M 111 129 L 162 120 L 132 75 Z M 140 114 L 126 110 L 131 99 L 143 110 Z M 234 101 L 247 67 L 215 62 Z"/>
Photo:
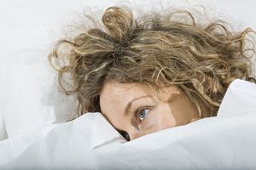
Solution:
<path fill-rule="evenodd" d="M 169 0 L 152 0 L 148 5 L 146 1 L 117 3 L 114 0 L 74 0 L 63 3 L 61 0 L 22 0 L 13 5 L 10 1 L 1 1 L 0 16 L 4 17 L 1 18 L 3 26 L 0 31 L 0 111 L 8 136 L 14 137 L 54 122 L 65 122 L 75 112 L 75 99 L 61 94 L 56 85 L 55 71 L 49 68 L 46 57 L 50 45 L 63 34 L 61 26 L 71 24 L 73 16 L 83 13 L 89 4 L 96 11 L 115 4 L 127 4 L 139 12 L 139 9 L 188 8 L 202 4 L 215 6 L 221 14 L 235 14 L 236 20 L 243 20 L 246 26 L 253 27 L 256 26 L 256 20 L 253 19 L 254 3 L 252 1 L 244 5 L 242 2 L 241 5 L 241 1 L 220 3 L 210 0 L 173 3 Z"/>

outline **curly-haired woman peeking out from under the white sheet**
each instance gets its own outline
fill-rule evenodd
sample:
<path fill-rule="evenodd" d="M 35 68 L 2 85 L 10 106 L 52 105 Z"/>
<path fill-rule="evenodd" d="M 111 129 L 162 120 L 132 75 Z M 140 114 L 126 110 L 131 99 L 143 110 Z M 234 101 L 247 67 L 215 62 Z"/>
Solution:
<path fill-rule="evenodd" d="M 230 82 L 256 82 L 249 28 L 232 32 L 219 20 L 201 26 L 189 11 L 134 19 L 119 7 L 108 8 L 102 22 L 105 28 L 58 42 L 49 61 L 64 92 L 77 95 L 79 116 L 102 112 L 127 140 L 216 116 Z M 58 69 L 52 60 L 60 52 L 69 64 Z M 66 72 L 70 91 L 61 82 Z"/>

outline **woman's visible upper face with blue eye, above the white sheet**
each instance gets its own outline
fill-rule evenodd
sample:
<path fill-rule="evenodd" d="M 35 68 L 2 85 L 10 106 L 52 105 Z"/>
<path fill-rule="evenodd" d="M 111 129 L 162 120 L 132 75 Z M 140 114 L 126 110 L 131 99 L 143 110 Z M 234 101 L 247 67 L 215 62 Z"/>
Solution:
<path fill-rule="evenodd" d="M 102 114 L 130 139 L 187 124 L 195 118 L 195 109 L 176 86 L 160 88 L 160 96 L 145 85 L 107 82 L 100 95 Z"/>

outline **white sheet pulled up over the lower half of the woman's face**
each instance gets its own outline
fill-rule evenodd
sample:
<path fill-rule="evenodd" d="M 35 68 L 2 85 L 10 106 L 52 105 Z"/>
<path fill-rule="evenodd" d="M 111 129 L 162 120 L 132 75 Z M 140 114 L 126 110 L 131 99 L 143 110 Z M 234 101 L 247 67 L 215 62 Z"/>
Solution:
<path fill-rule="evenodd" d="M 255 90 L 252 82 L 236 80 L 218 116 L 130 142 L 100 113 L 87 113 L 4 140 L 0 169 L 254 169 Z"/>

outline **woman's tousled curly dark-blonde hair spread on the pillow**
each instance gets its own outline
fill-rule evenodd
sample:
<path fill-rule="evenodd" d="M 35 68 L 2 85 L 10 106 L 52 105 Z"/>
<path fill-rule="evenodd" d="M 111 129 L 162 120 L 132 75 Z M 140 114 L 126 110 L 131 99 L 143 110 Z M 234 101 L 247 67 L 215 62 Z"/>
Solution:
<path fill-rule="evenodd" d="M 174 20 L 174 14 L 188 20 Z M 230 31 L 223 20 L 207 25 L 195 22 L 189 11 L 149 14 L 134 19 L 130 8 L 110 7 L 102 15 L 103 28 L 86 29 L 61 39 L 49 54 L 66 94 L 76 94 L 79 115 L 101 111 L 99 96 L 106 82 L 141 83 L 156 89 L 176 85 L 198 111 L 198 117 L 216 116 L 230 82 L 256 82 L 250 28 Z M 248 48 L 246 42 L 252 42 Z M 67 45 L 68 48 L 61 48 Z M 249 55 L 247 52 L 252 52 Z M 60 69 L 52 60 L 67 55 Z M 69 73 L 71 80 L 62 77 Z M 63 81 L 73 81 L 73 90 Z"/>

